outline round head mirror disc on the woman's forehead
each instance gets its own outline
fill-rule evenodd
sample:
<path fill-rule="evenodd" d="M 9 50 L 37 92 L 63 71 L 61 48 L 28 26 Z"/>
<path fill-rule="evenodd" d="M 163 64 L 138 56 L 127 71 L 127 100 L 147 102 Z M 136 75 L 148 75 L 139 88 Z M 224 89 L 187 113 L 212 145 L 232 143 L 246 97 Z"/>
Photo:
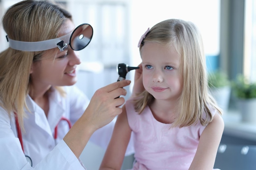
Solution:
<path fill-rule="evenodd" d="M 70 47 L 75 50 L 82 50 L 91 41 L 93 29 L 90 24 L 81 24 L 73 31 L 70 36 Z"/>

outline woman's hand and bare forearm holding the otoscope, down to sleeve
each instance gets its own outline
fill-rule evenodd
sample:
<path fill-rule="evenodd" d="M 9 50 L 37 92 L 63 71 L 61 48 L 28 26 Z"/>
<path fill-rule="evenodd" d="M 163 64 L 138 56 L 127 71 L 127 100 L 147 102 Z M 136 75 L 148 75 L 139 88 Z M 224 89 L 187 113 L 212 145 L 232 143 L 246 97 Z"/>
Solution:
<path fill-rule="evenodd" d="M 122 97 L 117 97 L 126 95 L 126 89 L 123 87 L 130 83 L 129 80 L 117 81 L 94 93 L 81 118 L 74 123 L 63 138 L 77 158 L 81 155 L 94 131 L 110 123 L 115 116 L 122 112 L 119 106 L 123 105 L 125 100 Z"/>

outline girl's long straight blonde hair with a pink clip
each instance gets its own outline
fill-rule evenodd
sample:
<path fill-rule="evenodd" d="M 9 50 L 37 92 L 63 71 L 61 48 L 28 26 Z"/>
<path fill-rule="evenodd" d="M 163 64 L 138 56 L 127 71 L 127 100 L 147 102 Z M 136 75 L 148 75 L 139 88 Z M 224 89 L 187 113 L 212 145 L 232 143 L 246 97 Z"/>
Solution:
<path fill-rule="evenodd" d="M 183 87 L 176 108 L 178 114 L 172 126 L 184 127 L 198 121 L 206 126 L 212 120 L 213 109 L 222 114 L 209 94 L 202 37 L 193 23 L 177 19 L 159 22 L 147 33 L 139 47 L 140 52 L 146 42 L 172 47 L 181 57 Z M 146 91 L 139 96 L 141 97 L 135 100 L 135 110 L 141 113 L 154 101 L 154 97 Z"/>

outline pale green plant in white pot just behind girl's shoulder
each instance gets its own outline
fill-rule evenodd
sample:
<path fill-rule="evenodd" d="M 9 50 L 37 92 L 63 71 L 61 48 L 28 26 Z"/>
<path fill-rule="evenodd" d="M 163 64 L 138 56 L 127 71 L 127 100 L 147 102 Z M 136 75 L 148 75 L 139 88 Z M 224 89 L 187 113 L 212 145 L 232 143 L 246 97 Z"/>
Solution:
<path fill-rule="evenodd" d="M 223 110 L 223 112 L 226 112 L 229 107 L 231 93 L 231 85 L 227 74 L 220 70 L 209 72 L 208 86 L 211 95 L 216 100 L 218 106 Z"/>

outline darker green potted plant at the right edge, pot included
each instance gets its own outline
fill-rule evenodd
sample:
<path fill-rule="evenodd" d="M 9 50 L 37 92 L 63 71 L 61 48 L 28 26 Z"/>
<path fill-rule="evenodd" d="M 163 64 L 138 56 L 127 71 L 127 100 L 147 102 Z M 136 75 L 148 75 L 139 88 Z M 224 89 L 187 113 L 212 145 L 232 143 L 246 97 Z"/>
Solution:
<path fill-rule="evenodd" d="M 256 82 L 238 74 L 232 82 L 232 91 L 236 97 L 243 122 L 256 123 Z"/>

